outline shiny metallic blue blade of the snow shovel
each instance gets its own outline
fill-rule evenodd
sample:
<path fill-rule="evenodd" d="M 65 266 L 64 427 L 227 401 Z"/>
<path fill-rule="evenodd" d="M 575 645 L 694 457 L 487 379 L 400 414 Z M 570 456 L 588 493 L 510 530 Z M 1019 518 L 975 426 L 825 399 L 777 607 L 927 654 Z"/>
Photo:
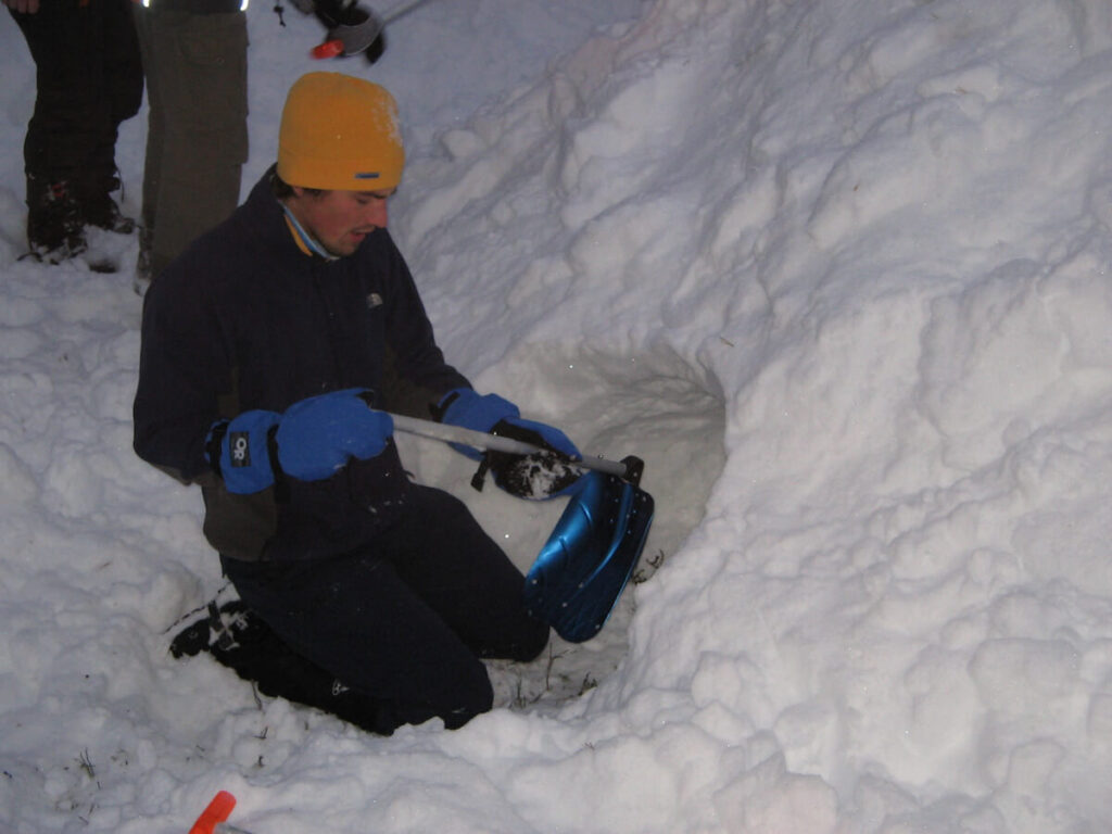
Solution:
<path fill-rule="evenodd" d="M 525 577 L 525 607 L 569 643 L 599 631 L 633 575 L 653 523 L 653 497 L 590 471 Z"/>

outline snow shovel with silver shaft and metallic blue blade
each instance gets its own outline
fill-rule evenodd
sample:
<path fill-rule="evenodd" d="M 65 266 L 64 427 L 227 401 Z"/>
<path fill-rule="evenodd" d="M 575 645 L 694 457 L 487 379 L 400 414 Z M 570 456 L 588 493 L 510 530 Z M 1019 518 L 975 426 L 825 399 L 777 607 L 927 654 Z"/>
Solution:
<path fill-rule="evenodd" d="M 536 455 L 532 444 L 483 431 L 391 415 L 394 428 L 490 451 Z M 586 457 L 564 513 L 525 577 L 525 607 L 569 643 L 590 639 L 609 617 L 645 548 L 653 496 L 638 484 L 644 463 Z"/>

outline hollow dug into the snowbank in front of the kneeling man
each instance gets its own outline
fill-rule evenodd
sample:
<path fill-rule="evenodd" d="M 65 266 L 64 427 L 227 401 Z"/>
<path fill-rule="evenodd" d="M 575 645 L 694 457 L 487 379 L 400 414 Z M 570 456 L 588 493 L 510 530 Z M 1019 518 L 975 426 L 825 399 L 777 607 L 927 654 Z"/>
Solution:
<path fill-rule="evenodd" d="M 523 416 L 559 426 L 584 454 L 642 458 L 641 486 L 656 504 L 634 578 L 598 636 L 569 644 L 554 633 L 545 654 L 532 664 L 488 663 L 496 708 L 558 706 L 617 668 L 627 651 L 638 586 L 652 582 L 702 522 L 725 460 L 723 397 L 713 376 L 669 349 L 615 357 L 534 347 L 474 381 L 480 391 L 513 391 Z M 529 569 L 566 499 L 514 498 L 489 479 L 478 493 L 468 486 L 475 466 L 463 456 L 419 438 L 399 436 L 398 443 L 419 480 L 459 496 L 517 566 Z"/>

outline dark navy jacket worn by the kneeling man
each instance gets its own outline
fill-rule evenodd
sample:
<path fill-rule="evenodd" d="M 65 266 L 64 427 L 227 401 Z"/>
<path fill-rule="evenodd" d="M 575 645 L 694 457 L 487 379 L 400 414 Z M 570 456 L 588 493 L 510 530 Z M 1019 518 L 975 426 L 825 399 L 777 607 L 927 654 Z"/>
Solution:
<path fill-rule="evenodd" d="M 220 226 L 159 276 L 143 302 L 135 449 L 205 494 L 205 533 L 242 559 L 345 553 L 370 540 L 405 500 L 393 441 L 322 481 L 287 479 L 228 493 L 205 457 L 218 419 L 364 387 L 375 405 L 428 417 L 468 381 L 444 361 L 401 255 L 385 229 L 325 260 L 296 242 L 271 172 Z"/>

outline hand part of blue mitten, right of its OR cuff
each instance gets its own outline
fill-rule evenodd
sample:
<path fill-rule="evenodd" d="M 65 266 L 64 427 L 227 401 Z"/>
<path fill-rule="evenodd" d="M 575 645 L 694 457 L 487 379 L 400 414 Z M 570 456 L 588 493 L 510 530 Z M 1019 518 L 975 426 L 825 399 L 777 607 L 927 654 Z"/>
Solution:
<path fill-rule="evenodd" d="M 379 455 L 394 434 L 394 418 L 371 410 L 365 393 L 347 388 L 287 408 L 275 435 L 281 470 L 298 480 L 324 480 L 353 457 Z"/>

